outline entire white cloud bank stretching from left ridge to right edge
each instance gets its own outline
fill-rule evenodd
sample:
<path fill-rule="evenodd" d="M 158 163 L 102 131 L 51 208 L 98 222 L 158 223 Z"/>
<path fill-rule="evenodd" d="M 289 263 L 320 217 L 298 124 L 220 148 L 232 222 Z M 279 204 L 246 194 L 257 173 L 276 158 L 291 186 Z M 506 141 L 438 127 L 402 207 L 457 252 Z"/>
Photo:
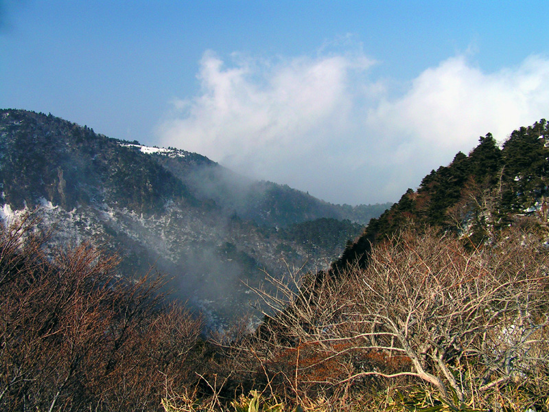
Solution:
<path fill-rule="evenodd" d="M 549 107 L 549 60 L 484 73 L 466 56 L 425 69 L 388 98 L 362 52 L 261 59 L 206 52 L 199 95 L 178 100 L 164 146 L 336 203 L 395 201 L 479 135 L 502 140 Z"/>

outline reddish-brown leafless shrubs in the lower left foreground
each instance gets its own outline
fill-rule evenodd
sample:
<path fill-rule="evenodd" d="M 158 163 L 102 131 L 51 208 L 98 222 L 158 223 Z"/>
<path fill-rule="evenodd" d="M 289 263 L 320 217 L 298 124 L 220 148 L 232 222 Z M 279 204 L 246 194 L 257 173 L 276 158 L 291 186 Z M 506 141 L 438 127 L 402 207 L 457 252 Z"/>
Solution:
<path fill-rule="evenodd" d="M 0 407 L 161 410 L 196 381 L 200 319 L 165 307 L 163 278 L 128 282 L 89 244 L 43 253 L 36 221 L 0 231 Z"/>

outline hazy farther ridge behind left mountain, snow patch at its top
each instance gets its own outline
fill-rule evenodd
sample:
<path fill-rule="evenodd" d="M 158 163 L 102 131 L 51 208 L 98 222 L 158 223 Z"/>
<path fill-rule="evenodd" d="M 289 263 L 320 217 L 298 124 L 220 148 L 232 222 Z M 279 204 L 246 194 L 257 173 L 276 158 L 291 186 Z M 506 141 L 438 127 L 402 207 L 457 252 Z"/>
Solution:
<path fill-rule="evenodd" d="M 146 150 L 139 145 L 133 147 Z M 183 181 L 196 198 L 213 201 L 229 213 L 258 225 L 287 227 L 319 218 L 347 219 L 366 225 L 391 205 L 334 205 L 288 185 L 253 181 L 196 153 L 170 148 L 152 150 L 151 155 Z"/>

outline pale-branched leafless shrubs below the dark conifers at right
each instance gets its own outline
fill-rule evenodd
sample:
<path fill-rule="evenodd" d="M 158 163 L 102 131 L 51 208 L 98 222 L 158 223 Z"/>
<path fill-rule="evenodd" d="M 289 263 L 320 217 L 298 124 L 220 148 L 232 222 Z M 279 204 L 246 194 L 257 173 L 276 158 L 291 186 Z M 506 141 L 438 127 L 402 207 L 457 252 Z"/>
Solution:
<path fill-rule="evenodd" d="M 272 279 L 278 295 L 258 292 L 277 315 L 249 347 L 270 385 L 297 398 L 340 398 L 380 378 L 424 382 L 472 407 L 549 393 L 547 268 L 548 251 L 524 231 L 473 251 L 403 231 L 364 270 L 305 276 L 299 288 Z"/>

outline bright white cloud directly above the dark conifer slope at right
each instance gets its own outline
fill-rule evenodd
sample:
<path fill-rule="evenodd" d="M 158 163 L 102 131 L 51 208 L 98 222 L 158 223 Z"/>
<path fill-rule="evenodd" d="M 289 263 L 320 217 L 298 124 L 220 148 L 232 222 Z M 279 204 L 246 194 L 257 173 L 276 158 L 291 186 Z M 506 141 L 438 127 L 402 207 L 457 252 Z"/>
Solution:
<path fill-rule="evenodd" d="M 395 196 L 417 187 L 432 168 L 446 165 L 458 151 L 467 154 L 478 137 L 493 133 L 504 141 L 515 128 L 549 114 L 549 60 L 530 56 L 519 67 L 484 73 L 465 56 L 426 69 L 405 95 L 379 102 L 366 119 L 391 142 L 392 165 L 382 193 Z M 381 150 L 386 150 L 382 146 Z M 394 197 L 393 197 L 394 198 Z"/>

